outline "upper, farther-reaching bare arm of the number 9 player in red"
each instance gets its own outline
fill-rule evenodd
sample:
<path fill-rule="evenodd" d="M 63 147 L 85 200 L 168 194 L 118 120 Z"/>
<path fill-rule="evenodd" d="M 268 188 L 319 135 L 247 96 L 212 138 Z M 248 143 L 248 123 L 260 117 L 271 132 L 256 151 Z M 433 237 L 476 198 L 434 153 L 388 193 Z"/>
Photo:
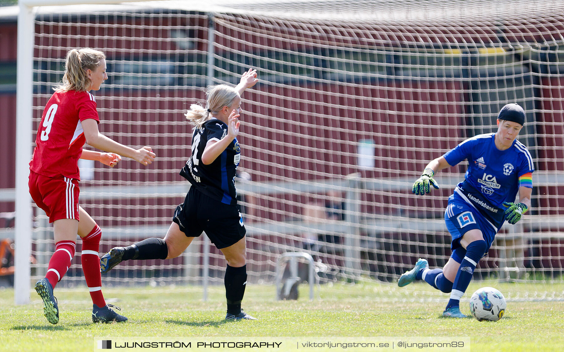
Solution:
<path fill-rule="evenodd" d="M 98 122 L 96 122 L 96 120 L 94 119 L 83 120 L 82 129 L 84 130 L 86 143 L 94 148 L 130 157 L 131 159 L 138 161 L 143 165 L 148 165 L 155 161 L 155 153 L 153 153 L 151 147 L 142 147 L 138 150 L 135 150 L 116 141 L 112 141 L 112 139 L 109 139 L 99 132 Z"/>

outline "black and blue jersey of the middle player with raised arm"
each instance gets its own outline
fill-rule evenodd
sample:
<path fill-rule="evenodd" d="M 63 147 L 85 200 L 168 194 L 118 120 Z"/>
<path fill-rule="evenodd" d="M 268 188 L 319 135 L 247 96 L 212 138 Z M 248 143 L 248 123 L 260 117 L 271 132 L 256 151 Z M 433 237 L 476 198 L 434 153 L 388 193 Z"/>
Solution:
<path fill-rule="evenodd" d="M 202 154 L 210 141 L 219 141 L 227 136 L 227 124 L 218 119 L 206 121 L 201 128 L 194 128 L 192 134 L 192 156 L 180 170 L 193 187 L 205 195 L 224 204 L 237 204 L 235 171 L 241 160 L 241 148 L 237 138 L 213 163 L 204 165 Z"/>

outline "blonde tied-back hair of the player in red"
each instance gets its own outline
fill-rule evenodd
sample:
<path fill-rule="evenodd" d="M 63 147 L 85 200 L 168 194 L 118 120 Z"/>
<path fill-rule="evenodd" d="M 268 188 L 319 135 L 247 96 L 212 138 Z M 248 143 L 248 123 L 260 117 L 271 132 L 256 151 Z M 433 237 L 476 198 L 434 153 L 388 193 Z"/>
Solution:
<path fill-rule="evenodd" d="M 55 91 L 86 92 L 91 84 L 90 78 L 86 75 L 86 70 L 94 71 L 103 58 L 105 58 L 103 52 L 91 48 L 69 50 L 65 59 L 63 84 L 55 87 Z"/>

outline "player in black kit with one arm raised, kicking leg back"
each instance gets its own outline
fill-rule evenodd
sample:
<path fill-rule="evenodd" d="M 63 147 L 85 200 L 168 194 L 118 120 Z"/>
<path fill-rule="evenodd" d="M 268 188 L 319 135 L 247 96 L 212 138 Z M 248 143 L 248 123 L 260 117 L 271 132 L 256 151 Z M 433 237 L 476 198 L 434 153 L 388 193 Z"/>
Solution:
<path fill-rule="evenodd" d="M 208 87 L 205 107 L 190 106 L 186 118 L 195 125 L 192 156 L 180 170 L 191 183 L 186 199 L 174 211 L 164 240 L 148 238 L 112 248 L 100 259 L 102 273 L 124 260 L 176 258 L 205 231 L 227 261 L 226 319 L 255 319 L 241 309 L 247 278 L 246 230 L 237 207 L 234 179 L 241 157 L 237 142 L 241 94 L 257 82 L 257 70 L 250 69 L 235 88 L 224 84 Z"/>

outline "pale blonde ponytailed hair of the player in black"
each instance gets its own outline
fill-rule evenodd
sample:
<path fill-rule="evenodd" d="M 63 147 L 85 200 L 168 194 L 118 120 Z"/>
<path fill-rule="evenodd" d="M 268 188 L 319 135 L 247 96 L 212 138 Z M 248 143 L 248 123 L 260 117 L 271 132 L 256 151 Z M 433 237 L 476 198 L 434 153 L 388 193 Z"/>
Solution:
<path fill-rule="evenodd" d="M 197 128 L 201 128 L 205 121 L 209 120 L 211 112 L 218 112 L 224 106 L 231 106 L 233 100 L 239 96 L 235 88 L 225 84 L 210 85 L 206 88 L 206 107 L 200 104 L 190 105 L 190 110 L 184 114 Z"/>

